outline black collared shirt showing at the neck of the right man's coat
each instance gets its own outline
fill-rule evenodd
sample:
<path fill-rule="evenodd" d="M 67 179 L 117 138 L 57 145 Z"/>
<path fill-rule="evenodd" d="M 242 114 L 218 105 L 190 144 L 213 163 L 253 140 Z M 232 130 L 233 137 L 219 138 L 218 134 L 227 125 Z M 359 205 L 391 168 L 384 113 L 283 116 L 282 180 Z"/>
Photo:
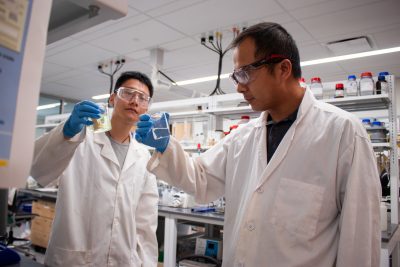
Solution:
<path fill-rule="evenodd" d="M 286 132 L 289 130 L 290 126 L 292 126 L 293 122 L 297 118 L 297 112 L 299 109 L 297 108 L 289 117 L 280 121 L 274 122 L 272 120 L 271 115 L 268 115 L 267 118 L 267 161 L 269 162 L 274 155 L 276 149 L 281 143 L 283 137 Z"/>

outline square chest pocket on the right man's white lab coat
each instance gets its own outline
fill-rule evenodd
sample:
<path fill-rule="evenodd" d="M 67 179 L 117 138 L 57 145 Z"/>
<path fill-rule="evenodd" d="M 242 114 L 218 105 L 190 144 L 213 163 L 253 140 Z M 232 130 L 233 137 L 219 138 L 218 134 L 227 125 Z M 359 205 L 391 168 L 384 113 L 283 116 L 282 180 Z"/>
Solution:
<path fill-rule="evenodd" d="M 270 222 L 290 234 L 309 240 L 316 232 L 325 189 L 282 178 Z"/>

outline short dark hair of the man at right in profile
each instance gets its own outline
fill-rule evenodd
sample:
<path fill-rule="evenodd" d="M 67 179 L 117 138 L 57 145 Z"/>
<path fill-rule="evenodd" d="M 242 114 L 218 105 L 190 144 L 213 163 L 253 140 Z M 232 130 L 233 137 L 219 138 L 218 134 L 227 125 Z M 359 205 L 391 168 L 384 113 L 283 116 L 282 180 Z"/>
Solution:
<path fill-rule="evenodd" d="M 271 54 L 285 56 L 292 62 L 292 73 L 301 78 L 300 55 L 296 42 L 281 25 L 273 22 L 262 22 L 242 31 L 231 43 L 235 48 L 246 38 L 255 42 L 255 58 L 266 58 Z M 271 68 L 272 70 L 272 68 Z"/>

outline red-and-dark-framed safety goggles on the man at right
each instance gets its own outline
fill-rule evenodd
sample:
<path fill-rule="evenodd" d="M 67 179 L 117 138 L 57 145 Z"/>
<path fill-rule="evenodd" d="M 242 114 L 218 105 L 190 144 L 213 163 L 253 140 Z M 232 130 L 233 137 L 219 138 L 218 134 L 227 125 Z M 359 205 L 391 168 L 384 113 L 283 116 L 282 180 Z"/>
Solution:
<path fill-rule="evenodd" d="M 234 70 L 233 73 L 229 75 L 229 78 L 231 78 L 235 86 L 237 86 L 239 83 L 242 85 L 246 85 L 253 81 L 253 78 L 251 76 L 252 71 L 259 69 L 264 65 L 279 63 L 284 59 L 287 59 L 287 57 L 272 54 L 268 58 L 258 60 L 251 64 L 245 65 L 237 70 Z"/>

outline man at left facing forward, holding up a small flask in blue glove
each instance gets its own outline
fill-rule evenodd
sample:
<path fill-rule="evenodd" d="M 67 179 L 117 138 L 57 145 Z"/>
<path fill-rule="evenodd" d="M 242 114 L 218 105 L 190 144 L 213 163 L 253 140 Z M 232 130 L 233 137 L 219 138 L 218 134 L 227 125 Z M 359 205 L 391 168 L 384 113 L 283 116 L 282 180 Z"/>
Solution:
<path fill-rule="evenodd" d="M 42 185 L 59 178 L 47 266 L 157 265 L 157 183 L 130 132 L 152 95 L 147 76 L 124 72 L 109 100 L 110 131 L 86 130 L 101 110 L 83 101 L 36 141 L 32 176 Z"/>

